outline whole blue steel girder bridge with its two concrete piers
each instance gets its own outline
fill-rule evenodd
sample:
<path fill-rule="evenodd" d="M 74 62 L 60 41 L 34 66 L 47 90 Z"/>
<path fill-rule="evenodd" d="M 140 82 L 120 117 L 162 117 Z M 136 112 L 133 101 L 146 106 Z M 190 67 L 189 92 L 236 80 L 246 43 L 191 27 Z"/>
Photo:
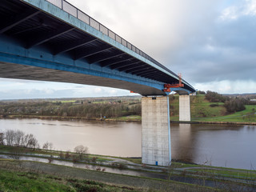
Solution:
<path fill-rule="evenodd" d="M 131 90 L 142 97 L 142 162 L 170 164 L 168 94 L 190 121 L 194 87 L 64 0 L 2 0 L 0 78 L 72 82 Z"/>

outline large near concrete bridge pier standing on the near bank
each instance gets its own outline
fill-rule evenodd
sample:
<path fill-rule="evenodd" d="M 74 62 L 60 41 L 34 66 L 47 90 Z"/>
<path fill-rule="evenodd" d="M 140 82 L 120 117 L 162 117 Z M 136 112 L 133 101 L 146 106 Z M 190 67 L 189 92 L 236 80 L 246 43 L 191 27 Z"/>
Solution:
<path fill-rule="evenodd" d="M 142 98 L 142 163 L 169 166 L 169 97 Z"/>

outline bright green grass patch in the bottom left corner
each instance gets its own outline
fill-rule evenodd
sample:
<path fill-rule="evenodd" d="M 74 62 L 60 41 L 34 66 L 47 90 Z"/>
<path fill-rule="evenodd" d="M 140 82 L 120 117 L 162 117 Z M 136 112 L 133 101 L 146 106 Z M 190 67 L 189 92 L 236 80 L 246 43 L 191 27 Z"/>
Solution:
<path fill-rule="evenodd" d="M 0 168 L 0 191 L 141 191 L 132 187 L 110 186 L 75 178 L 62 178 L 51 174 L 14 171 Z"/>

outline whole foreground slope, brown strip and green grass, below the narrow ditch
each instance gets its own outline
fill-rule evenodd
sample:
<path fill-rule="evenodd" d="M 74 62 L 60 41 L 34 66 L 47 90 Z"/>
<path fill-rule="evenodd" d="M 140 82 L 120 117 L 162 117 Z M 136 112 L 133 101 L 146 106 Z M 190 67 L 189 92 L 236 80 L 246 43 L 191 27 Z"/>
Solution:
<path fill-rule="evenodd" d="M 215 191 L 206 186 L 0 159 L 1 191 Z"/>

